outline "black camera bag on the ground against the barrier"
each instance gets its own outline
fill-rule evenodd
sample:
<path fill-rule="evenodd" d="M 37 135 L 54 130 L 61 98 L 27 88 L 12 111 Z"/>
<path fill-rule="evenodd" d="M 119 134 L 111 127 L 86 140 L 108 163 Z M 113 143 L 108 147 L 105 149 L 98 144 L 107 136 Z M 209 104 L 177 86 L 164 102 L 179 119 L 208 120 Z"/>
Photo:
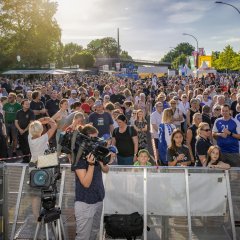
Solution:
<path fill-rule="evenodd" d="M 104 222 L 107 235 L 113 239 L 131 240 L 143 234 L 143 218 L 138 212 L 105 216 Z"/>

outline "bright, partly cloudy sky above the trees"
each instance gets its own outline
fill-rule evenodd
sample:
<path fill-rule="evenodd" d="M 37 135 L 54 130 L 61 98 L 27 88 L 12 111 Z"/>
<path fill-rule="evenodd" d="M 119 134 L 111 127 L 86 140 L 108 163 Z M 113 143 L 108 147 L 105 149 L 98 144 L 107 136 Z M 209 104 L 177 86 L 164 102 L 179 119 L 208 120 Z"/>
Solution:
<path fill-rule="evenodd" d="M 62 42 L 86 47 L 97 38 L 117 38 L 134 59 L 159 61 L 181 42 L 206 54 L 230 44 L 240 51 L 240 14 L 212 0 L 55 0 Z M 225 0 L 240 9 L 240 0 Z"/>

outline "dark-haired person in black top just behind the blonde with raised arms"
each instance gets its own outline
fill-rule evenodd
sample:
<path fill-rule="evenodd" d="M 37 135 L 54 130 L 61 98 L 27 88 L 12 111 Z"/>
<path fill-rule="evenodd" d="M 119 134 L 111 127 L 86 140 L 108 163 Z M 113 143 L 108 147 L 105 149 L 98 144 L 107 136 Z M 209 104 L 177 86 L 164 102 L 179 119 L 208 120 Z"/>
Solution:
<path fill-rule="evenodd" d="M 41 99 L 41 93 L 39 91 L 34 91 L 32 93 L 32 101 L 30 103 L 30 109 L 33 110 L 35 119 L 38 120 L 45 116 L 46 109 Z"/>

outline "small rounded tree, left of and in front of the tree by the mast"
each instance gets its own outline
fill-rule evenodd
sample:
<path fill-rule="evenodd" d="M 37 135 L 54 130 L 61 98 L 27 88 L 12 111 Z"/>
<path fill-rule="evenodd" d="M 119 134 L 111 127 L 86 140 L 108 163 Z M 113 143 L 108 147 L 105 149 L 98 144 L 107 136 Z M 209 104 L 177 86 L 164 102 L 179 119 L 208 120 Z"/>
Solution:
<path fill-rule="evenodd" d="M 93 67 L 94 57 L 89 51 L 83 50 L 82 52 L 75 53 L 71 61 L 73 64 L 79 65 L 79 67 L 89 68 Z"/>

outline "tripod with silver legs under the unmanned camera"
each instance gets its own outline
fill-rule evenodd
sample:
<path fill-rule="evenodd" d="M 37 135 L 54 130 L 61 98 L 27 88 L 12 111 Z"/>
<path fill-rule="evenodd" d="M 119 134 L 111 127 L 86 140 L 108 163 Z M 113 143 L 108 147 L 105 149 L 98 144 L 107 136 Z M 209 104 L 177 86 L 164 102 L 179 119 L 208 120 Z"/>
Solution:
<path fill-rule="evenodd" d="M 50 226 L 52 227 L 55 240 L 62 240 L 62 236 L 63 239 L 66 239 L 60 208 L 54 207 L 50 210 L 43 208 L 41 210 L 34 234 L 34 240 L 39 239 L 39 230 L 41 229 L 41 225 L 43 224 L 45 226 L 46 240 L 49 240 L 49 224 L 51 224 Z"/>

